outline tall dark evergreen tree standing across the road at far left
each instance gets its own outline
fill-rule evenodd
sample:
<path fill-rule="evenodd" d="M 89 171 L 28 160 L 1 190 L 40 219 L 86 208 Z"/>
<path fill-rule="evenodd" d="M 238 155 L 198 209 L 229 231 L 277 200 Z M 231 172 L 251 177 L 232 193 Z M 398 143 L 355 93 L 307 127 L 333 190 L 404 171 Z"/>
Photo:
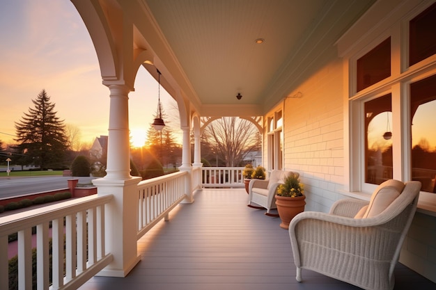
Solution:
<path fill-rule="evenodd" d="M 15 122 L 17 138 L 15 149 L 18 155 L 16 163 L 39 166 L 42 170 L 63 168 L 68 140 L 63 120 L 56 117 L 54 103 L 45 90 L 41 90 L 36 99 L 32 99 L 35 108 L 29 108 L 20 122 Z"/>

